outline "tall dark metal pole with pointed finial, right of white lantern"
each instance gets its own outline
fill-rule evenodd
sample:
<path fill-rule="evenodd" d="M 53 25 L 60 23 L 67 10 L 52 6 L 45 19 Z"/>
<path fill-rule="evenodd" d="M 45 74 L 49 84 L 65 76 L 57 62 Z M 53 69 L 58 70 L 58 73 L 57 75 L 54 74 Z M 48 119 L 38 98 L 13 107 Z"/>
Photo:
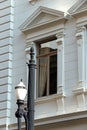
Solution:
<path fill-rule="evenodd" d="M 30 49 L 30 60 L 28 64 L 28 95 L 27 95 L 27 118 L 28 118 L 28 130 L 34 130 L 34 88 L 35 88 L 35 60 L 34 60 L 34 48 Z"/>

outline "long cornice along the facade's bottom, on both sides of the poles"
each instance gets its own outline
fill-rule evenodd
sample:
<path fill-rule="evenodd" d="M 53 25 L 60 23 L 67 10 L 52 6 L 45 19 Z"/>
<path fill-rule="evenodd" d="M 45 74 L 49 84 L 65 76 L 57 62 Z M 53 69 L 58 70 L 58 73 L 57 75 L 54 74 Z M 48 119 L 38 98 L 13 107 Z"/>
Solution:
<path fill-rule="evenodd" d="M 87 110 L 86 111 L 80 111 L 80 112 L 73 112 L 73 113 L 67 113 L 67 114 L 62 114 L 62 115 L 56 115 L 52 117 L 46 117 L 46 118 L 40 118 L 40 119 L 35 119 L 35 127 L 37 126 L 43 126 L 43 125 L 48 125 L 50 124 L 50 127 L 52 124 L 59 124 L 63 123 L 67 124 L 73 121 L 73 124 L 76 123 L 76 121 L 79 123 L 81 120 L 87 120 Z M 75 122 L 74 122 L 75 121 Z M 17 130 L 17 123 L 13 123 L 8 125 L 9 129 L 11 130 Z M 24 128 L 24 123 L 22 123 L 22 128 Z"/>

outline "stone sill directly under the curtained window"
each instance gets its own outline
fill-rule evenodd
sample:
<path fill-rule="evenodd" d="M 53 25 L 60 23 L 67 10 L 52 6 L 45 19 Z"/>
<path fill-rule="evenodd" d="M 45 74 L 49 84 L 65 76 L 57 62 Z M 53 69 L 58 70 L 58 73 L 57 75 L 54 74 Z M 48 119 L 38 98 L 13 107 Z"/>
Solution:
<path fill-rule="evenodd" d="M 43 103 L 50 102 L 50 101 L 54 101 L 54 100 L 57 100 L 59 98 L 64 98 L 64 97 L 65 97 L 65 95 L 63 93 L 53 94 L 53 95 L 50 95 L 50 96 L 39 97 L 39 98 L 37 98 L 35 100 L 35 105 L 43 104 Z"/>

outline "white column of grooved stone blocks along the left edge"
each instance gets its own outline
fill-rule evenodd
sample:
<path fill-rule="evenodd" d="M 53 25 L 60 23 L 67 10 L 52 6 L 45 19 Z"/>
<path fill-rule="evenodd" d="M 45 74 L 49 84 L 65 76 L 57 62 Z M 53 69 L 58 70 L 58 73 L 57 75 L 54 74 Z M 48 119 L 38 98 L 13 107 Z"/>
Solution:
<path fill-rule="evenodd" d="M 0 129 L 8 130 L 11 111 L 14 0 L 0 1 Z"/>

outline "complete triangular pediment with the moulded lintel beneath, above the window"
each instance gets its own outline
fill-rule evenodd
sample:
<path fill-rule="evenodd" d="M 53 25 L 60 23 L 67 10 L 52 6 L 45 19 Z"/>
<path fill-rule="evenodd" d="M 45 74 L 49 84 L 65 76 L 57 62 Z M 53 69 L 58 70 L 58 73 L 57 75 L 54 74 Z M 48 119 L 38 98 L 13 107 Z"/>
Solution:
<path fill-rule="evenodd" d="M 65 20 L 63 12 L 40 6 L 29 18 L 27 18 L 27 20 L 25 20 L 20 26 L 20 29 L 26 34 L 27 43 L 29 43 L 43 37 L 56 35 L 60 28 L 63 28 Z M 58 21 L 58 25 L 55 25 L 56 21 Z M 57 27 L 58 29 L 56 26 L 59 26 Z M 36 29 L 38 29 L 37 32 Z"/>

